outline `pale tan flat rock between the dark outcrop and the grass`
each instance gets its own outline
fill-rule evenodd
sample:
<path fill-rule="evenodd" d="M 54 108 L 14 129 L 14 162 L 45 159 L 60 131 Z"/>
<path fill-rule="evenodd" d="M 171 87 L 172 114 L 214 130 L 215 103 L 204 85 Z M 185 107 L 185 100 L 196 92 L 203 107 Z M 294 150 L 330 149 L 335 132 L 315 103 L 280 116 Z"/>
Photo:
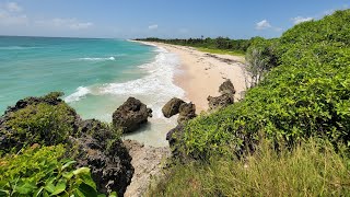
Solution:
<path fill-rule="evenodd" d="M 132 157 L 131 164 L 135 167 L 131 184 L 124 196 L 144 196 L 152 177 L 160 178 L 163 175 L 163 162 L 171 155 L 171 150 L 168 147 L 149 147 L 133 140 L 125 140 L 124 144 Z"/>

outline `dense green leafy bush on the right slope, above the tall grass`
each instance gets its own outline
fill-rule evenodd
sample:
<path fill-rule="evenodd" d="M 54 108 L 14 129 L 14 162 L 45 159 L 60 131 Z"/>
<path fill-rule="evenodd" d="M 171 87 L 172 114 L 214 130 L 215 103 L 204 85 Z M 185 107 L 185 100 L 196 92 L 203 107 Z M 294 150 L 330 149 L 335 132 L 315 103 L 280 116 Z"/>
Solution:
<path fill-rule="evenodd" d="M 285 32 L 273 53 L 278 66 L 243 102 L 190 120 L 184 151 L 232 154 L 260 136 L 288 144 L 311 136 L 350 143 L 349 27 L 345 10 Z"/>

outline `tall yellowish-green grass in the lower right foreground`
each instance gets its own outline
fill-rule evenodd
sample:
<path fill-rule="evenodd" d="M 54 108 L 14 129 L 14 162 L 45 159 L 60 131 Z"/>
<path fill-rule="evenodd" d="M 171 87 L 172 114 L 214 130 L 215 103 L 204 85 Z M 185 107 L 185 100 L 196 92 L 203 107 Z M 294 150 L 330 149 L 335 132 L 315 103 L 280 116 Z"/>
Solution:
<path fill-rule="evenodd" d="M 279 153 L 264 142 L 244 161 L 177 164 L 149 196 L 349 196 L 350 160 L 311 140 Z"/>

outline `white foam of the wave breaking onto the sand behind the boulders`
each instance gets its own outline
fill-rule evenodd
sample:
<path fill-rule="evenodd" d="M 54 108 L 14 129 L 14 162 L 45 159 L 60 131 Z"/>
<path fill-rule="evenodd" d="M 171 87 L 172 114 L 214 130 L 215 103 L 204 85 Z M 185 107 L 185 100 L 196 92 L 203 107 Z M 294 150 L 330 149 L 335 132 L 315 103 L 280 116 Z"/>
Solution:
<path fill-rule="evenodd" d="M 154 118 L 162 118 L 162 106 L 172 97 L 184 97 L 185 92 L 173 83 L 176 68 L 179 66 L 178 57 L 164 48 L 158 48 L 155 60 L 141 65 L 149 74 L 125 83 L 107 83 L 100 88 L 102 94 L 145 97 L 147 105 L 153 109 Z"/>

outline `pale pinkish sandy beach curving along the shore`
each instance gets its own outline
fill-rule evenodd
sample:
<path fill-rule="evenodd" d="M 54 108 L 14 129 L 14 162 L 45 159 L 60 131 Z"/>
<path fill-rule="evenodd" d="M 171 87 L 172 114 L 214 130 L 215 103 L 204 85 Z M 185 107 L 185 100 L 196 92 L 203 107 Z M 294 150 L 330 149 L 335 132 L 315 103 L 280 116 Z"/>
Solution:
<path fill-rule="evenodd" d="M 212 55 L 192 47 L 163 43 L 144 43 L 163 47 L 176 54 L 180 60 L 180 72 L 175 76 L 175 83 L 185 90 L 186 100 L 196 104 L 197 112 L 208 109 L 207 97 L 219 95 L 219 85 L 230 79 L 236 90 L 235 99 L 246 89 L 244 57 Z"/>

